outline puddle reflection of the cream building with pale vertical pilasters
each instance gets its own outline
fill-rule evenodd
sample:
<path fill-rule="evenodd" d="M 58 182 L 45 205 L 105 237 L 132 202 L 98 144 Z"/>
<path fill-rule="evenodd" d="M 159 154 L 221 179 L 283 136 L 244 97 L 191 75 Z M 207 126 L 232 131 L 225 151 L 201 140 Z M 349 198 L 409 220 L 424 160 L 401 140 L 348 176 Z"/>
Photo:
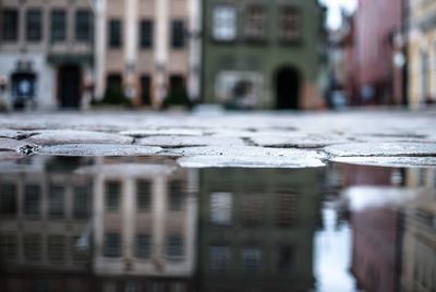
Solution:
<path fill-rule="evenodd" d="M 96 273 L 104 277 L 192 277 L 195 173 L 157 163 L 106 160 L 89 170 L 96 173 Z"/>

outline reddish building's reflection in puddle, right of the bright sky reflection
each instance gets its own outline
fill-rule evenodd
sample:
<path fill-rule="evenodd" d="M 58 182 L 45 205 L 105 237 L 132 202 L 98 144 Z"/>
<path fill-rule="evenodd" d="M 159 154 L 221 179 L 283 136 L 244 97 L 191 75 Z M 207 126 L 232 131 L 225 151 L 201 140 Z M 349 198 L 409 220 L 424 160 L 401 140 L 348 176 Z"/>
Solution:
<path fill-rule="evenodd" d="M 393 181 L 395 184 L 402 184 L 403 181 L 401 178 L 396 179 L 396 169 L 352 165 L 341 168 L 343 187 L 354 186 L 352 191 L 355 191 L 349 192 L 351 195 L 347 200 L 353 200 L 353 195 L 361 194 L 361 190 L 377 192 L 377 187 L 383 190 L 382 187 L 392 185 Z M 367 190 L 365 185 L 375 187 Z M 383 195 L 383 192 L 378 193 Z M 389 206 L 350 211 L 350 224 L 353 229 L 351 272 L 356 278 L 358 285 L 365 291 L 398 291 L 400 222 L 400 214 Z"/>

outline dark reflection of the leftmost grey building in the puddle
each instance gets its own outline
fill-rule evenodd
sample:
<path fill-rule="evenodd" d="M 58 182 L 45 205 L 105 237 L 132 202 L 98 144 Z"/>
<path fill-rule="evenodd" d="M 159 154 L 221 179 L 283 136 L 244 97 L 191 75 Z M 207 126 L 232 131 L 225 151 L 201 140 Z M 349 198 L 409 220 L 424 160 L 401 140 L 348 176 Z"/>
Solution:
<path fill-rule="evenodd" d="M 41 157 L 20 162 L 0 168 L 0 287 L 92 291 L 92 250 L 77 246 L 92 216 L 92 179 L 71 175 L 62 161 L 56 169 Z"/>

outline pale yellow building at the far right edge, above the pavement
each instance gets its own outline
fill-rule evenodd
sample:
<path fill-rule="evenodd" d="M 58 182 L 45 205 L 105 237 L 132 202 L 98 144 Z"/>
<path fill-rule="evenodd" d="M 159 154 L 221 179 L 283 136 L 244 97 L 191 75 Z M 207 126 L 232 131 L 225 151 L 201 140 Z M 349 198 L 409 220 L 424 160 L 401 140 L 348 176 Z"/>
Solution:
<path fill-rule="evenodd" d="M 409 0 L 409 105 L 436 101 L 436 0 Z"/>

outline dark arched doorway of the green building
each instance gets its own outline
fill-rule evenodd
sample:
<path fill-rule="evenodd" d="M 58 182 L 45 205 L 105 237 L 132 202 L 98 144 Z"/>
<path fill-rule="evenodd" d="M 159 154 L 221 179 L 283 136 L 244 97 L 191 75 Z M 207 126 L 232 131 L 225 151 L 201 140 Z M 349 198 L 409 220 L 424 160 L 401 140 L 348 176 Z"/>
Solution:
<path fill-rule="evenodd" d="M 277 109 L 299 109 L 300 74 L 293 68 L 283 68 L 276 75 Z"/>

